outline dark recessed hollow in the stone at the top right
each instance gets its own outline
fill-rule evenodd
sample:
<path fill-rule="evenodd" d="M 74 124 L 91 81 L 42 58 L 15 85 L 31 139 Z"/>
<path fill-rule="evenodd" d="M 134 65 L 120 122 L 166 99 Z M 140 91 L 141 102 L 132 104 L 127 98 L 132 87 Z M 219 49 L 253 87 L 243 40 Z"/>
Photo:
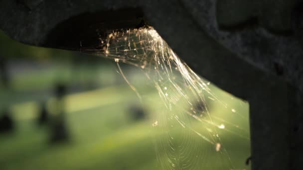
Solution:
<path fill-rule="evenodd" d="M 295 0 L 217 0 L 218 25 L 228 29 L 255 22 L 273 32 L 291 32 L 294 5 Z"/>

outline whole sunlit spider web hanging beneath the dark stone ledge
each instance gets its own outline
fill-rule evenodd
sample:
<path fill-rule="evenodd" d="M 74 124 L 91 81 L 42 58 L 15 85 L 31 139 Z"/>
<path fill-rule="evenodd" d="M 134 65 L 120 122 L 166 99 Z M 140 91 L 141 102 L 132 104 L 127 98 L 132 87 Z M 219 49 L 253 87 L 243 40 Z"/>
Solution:
<path fill-rule="evenodd" d="M 140 68 L 161 102 L 151 116 L 159 169 L 244 170 L 250 156 L 248 103 L 196 75 L 152 27 L 114 30 L 81 49 Z"/>

